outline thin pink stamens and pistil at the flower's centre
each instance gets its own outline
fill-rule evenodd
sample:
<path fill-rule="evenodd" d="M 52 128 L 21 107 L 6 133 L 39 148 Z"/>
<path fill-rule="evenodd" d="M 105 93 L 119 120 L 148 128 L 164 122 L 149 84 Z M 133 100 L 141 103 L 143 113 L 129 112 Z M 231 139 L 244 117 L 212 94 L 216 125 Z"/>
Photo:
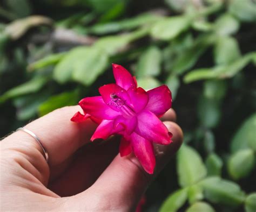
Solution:
<path fill-rule="evenodd" d="M 120 112 L 122 112 L 122 114 L 126 117 L 131 117 L 136 115 L 136 113 L 134 112 L 134 110 L 128 105 L 126 104 L 126 101 L 123 100 L 122 98 L 120 98 L 118 95 L 116 94 L 110 94 L 110 98 L 111 98 L 111 105 L 115 108 L 117 108 L 118 110 L 120 110 Z"/>

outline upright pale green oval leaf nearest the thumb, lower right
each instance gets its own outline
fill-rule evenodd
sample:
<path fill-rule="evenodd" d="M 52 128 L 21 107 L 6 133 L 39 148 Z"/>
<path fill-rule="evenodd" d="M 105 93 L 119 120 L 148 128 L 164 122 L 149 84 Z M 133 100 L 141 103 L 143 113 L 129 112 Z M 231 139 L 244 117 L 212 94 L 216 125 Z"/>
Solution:
<path fill-rule="evenodd" d="M 200 155 L 185 144 L 178 151 L 177 168 L 181 187 L 191 186 L 206 176 L 206 168 Z"/>

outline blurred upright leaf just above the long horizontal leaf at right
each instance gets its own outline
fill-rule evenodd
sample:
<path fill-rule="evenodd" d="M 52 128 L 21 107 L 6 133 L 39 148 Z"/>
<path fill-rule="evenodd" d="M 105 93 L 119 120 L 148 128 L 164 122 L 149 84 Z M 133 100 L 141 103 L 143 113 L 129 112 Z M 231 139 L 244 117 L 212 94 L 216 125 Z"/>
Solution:
<path fill-rule="evenodd" d="M 236 39 L 226 36 L 217 39 L 214 47 L 214 60 L 217 65 L 230 64 L 240 57 L 241 53 Z"/>

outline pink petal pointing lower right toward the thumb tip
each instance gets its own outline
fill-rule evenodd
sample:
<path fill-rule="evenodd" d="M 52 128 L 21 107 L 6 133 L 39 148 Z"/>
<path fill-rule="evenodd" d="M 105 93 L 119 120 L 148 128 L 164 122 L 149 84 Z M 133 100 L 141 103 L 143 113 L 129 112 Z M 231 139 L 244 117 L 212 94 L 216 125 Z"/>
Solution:
<path fill-rule="evenodd" d="M 170 144 L 171 136 L 163 122 L 148 110 L 144 110 L 138 114 L 138 124 L 134 132 L 151 142 L 158 144 Z"/>

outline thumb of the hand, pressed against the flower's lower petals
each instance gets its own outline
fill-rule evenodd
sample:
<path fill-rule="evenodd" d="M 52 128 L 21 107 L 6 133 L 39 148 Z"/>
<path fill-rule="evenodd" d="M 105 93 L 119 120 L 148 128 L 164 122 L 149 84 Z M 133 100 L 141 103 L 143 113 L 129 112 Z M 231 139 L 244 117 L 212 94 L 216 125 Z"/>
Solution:
<path fill-rule="evenodd" d="M 180 127 L 173 122 L 165 122 L 165 125 L 173 133 L 173 143 L 167 146 L 156 145 L 157 165 L 154 174 L 147 174 L 134 156 L 120 157 L 118 154 L 95 184 L 85 192 L 71 197 L 69 203 L 73 207 L 83 208 L 86 195 L 95 194 L 95 199 L 91 195 L 90 204 L 95 201 L 102 205 L 110 204 L 113 210 L 120 209 L 121 205 L 127 211 L 136 207 L 149 183 L 182 143 L 183 133 Z M 111 196 L 111 199 L 106 200 L 106 196 Z"/>

